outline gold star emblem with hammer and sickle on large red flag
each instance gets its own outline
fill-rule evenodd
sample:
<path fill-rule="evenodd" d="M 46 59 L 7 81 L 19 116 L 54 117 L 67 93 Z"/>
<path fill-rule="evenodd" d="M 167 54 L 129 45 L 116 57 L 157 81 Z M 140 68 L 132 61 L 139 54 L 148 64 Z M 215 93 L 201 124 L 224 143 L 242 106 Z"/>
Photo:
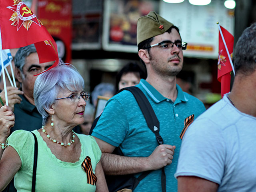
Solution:
<path fill-rule="evenodd" d="M 23 1 L 14 0 L 14 5 L 8 6 L 7 8 L 13 11 L 13 14 L 9 21 L 13 21 L 12 25 L 17 26 L 17 31 L 23 25 L 28 30 L 32 23 L 36 23 L 41 26 L 40 20 L 36 18 L 36 15 L 30 10 Z"/>

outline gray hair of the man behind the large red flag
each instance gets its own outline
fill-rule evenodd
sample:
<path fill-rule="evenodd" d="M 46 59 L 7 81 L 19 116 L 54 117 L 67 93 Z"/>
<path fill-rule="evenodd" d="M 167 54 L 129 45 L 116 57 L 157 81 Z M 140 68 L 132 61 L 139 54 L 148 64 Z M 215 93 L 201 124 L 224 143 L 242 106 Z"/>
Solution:
<path fill-rule="evenodd" d="M 36 53 L 36 47 L 34 46 L 34 44 L 19 48 L 15 55 L 15 58 L 14 58 L 15 67 L 18 68 L 22 74 L 23 74 L 22 68 L 25 65 L 26 57 L 32 53 Z"/>

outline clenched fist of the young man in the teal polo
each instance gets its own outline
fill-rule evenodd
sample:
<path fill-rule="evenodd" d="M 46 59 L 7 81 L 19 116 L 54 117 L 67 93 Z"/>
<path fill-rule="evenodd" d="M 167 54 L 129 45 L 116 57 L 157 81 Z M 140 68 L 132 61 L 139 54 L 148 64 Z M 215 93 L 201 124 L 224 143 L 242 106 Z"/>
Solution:
<path fill-rule="evenodd" d="M 166 144 L 157 146 L 152 154 L 148 156 L 150 170 L 157 170 L 171 164 L 175 148 L 176 146 Z"/>

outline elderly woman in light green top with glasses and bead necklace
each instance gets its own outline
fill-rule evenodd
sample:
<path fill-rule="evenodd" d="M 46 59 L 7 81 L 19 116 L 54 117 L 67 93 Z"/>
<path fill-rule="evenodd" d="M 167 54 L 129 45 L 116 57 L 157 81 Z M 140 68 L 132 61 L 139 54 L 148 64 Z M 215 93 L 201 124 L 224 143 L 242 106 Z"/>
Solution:
<path fill-rule="evenodd" d="M 40 74 L 34 100 L 43 126 L 32 133 L 17 130 L 7 138 L 14 114 L 8 106 L 0 109 L 0 190 L 14 177 L 18 192 L 108 191 L 98 144 L 72 131 L 84 121 L 89 94 L 83 89 L 84 80 L 72 65 Z"/>

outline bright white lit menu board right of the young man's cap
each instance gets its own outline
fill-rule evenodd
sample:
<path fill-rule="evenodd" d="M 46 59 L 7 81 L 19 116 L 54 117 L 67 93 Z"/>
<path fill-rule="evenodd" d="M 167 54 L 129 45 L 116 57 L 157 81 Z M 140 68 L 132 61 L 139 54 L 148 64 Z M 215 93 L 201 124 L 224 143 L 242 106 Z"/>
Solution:
<path fill-rule="evenodd" d="M 227 9 L 223 0 L 214 0 L 206 6 L 160 2 L 160 15 L 180 29 L 182 41 L 187 42 L 183 52 L 187 57 L 218 58 L 218 26 L 234 35 L 234 10 Z"/>

